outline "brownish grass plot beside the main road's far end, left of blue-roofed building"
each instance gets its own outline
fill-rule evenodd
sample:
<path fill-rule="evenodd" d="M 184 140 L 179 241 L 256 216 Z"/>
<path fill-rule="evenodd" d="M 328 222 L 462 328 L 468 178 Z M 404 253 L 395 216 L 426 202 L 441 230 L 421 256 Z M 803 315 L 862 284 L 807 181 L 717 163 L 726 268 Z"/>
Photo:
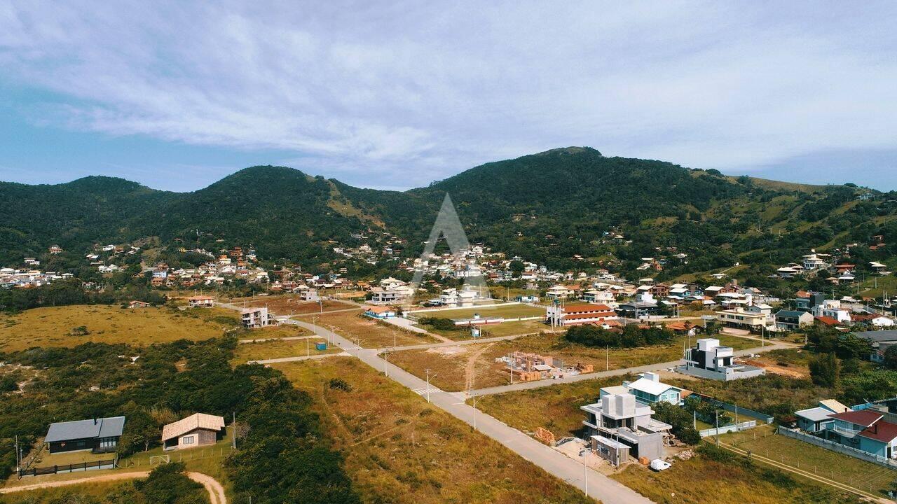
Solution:
<path fill-rule="evenodd" d="M 310 322 L 309 317 L 304 320 Z M 337 313 L 325 313 L 314 318 L 318 326 L 330 329 L 337 335 L 344 336 L 353 342 L 361 341 L 365 348 L 379 348 L 397 345 L 437 343 L 438 340 L 429 335 L 422 335 L 405 331 L 400 327 L 388 326 L 386 322 L 379 322 L 363 315 L 361 309 L 357 311 L 341 311 Z M 395 338 L 395 340 L 394 340 Z"/>

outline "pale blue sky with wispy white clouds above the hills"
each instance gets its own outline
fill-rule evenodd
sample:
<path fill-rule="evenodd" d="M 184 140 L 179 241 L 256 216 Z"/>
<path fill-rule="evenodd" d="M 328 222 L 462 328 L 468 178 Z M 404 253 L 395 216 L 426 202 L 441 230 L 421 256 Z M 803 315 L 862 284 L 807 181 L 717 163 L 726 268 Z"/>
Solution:
<path fill-rule="evenodd" d="M 428 185 L 587 145 L 897 189 L 894 2 L 0 2 L 0 180 Z"/>

